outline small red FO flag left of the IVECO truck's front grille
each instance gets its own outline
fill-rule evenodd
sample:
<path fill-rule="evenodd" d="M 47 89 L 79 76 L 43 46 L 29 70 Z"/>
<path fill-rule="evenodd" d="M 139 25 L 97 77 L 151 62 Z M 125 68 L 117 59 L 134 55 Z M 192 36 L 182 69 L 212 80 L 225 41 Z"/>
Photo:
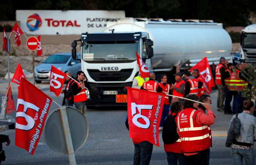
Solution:
<path fill-rule="evenodd" d="M 50 91 L 54 92 L 59 97 L 62 86 L 66 80 L 67 75 L 59 69 L 52 66 L 50 78 Z"/>

